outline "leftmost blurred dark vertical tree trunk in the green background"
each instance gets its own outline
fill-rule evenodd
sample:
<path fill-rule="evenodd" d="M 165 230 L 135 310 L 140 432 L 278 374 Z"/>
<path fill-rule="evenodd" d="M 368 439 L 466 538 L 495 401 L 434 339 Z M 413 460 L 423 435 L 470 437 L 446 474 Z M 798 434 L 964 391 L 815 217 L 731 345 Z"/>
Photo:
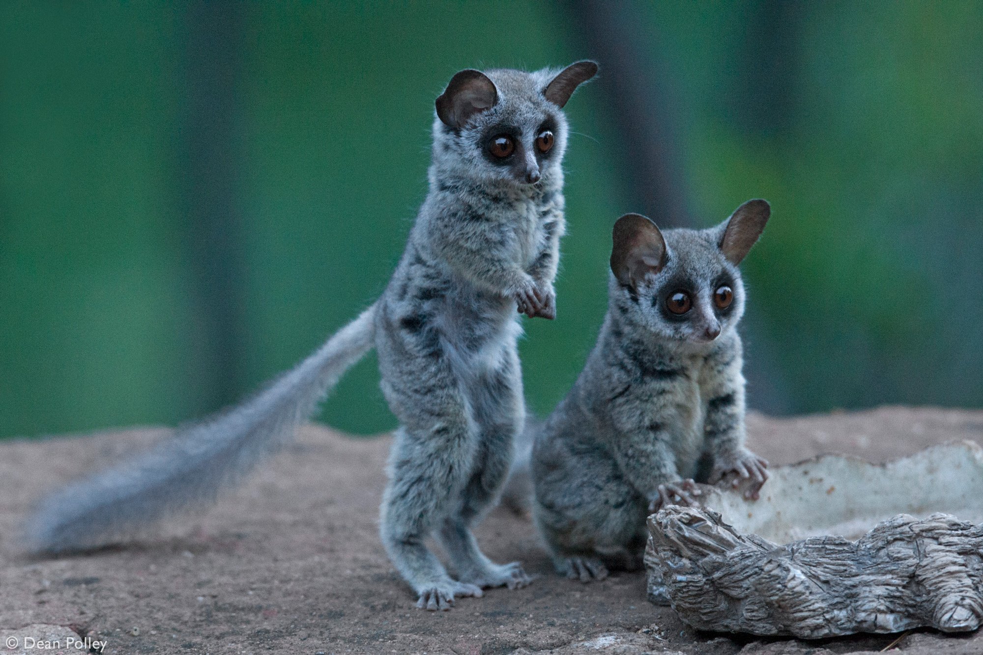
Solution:
<path fill-rule="evenodd" d="M 177 144 L 182 246 L 191 272 L 191 387 L 200 410 L 239 393 L 244 347 L 244 252 L 237 206 L 239 85 L 245 6 L 196 0 L 186 10 Z"/>

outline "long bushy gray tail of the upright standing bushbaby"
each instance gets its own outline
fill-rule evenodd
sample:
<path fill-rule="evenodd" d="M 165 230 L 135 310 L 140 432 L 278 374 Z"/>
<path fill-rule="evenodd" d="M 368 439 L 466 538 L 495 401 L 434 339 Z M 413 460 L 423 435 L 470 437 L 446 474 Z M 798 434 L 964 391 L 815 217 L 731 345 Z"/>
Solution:
<path fill-rule="evenodd" d="M 372 349 L 374 315 L 375 305 L 252 400 L 51 495 L 29 519 L 25 545 L 46 553 L 94 548 L 213 501 L 286 443 L 344 372 Z"/>

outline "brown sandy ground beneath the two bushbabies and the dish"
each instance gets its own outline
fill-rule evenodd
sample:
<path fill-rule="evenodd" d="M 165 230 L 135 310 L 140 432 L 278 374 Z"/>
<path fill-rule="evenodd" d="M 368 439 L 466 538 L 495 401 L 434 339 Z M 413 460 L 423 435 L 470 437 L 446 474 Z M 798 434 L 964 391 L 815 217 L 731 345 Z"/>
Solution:
<path fill-rule="evenodd" d="M 749 418 L 775 464 L 824 452 L 879 462 L 954 439 L 983 444 L 983 411 L 884 408 Z M 88 636 L 105 653 L 880 652 L 899 635 L 804 643 L 695 632 L 645 599 L 642 573 L 582 585 L 559 578 L 528 519 L 495 510 L 479 529 L 492 559 L 521 560 L 534 583 L 428 613 L 376 535 L 389 439 L 305 427 L 297 442 L 206 514 L 125 546 L 58 559 L 19 554 L 12 535 L 59 483 L 139 451 L 167 430 L 0 444 L 0 653 L 24 637 Z M 8 637 L 22 644 L 4 650 Z M 983 653 L 983 636 L 906 633 L 905 653 Z M 85 652 L 75 644 L 61 652 Z"/>

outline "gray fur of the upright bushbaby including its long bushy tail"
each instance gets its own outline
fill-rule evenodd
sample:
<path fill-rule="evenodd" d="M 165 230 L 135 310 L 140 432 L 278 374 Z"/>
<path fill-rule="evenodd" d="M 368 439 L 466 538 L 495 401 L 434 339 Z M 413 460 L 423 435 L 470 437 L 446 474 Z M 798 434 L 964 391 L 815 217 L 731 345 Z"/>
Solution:
<path fill-rule="evenodd" d="M 253 401 L 49 498 L 29 524 L 29 546 L 99 546 L 212 500 L 288 439 L 344 370 L 375 346 L 381 387 L 400 422 L 380 533 L 420 606 L 446 609 L 455 595 L 527 583 L 518 563 L 489 561 L 470 529 L 496 501 L 524 421 L 515 297 L 530 289 L 550 299 L 553 293 L 567 126 L 543 93 L 557 73 L 489 71 L 497 89 L 491 109 L 455 129 L 434 120 L 430 193 L 373 307 Z M 554 145 L 534 155 L 538 184 L 523 184 L 485 154 L 497 125 L 536 153 L 547 118 Z M 432 534 L 456 579 L 424 545 Z"/>

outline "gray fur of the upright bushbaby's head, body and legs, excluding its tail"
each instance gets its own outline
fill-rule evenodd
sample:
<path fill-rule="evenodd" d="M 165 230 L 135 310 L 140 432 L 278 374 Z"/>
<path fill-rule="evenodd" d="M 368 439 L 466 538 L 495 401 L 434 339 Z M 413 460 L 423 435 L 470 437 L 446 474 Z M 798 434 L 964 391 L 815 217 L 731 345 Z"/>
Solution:
<path fill-rule="evenodd" d="M 567 130 L 538 90 L 554 73 L 490 71 L 498 105 L 459 133 L 434 122 L 432 191 L 376 313 L 382 390 L 401 423 L 380 532 L 422 596 L 454 585 L 423 543 L 432 532 L 459 582 L 526 582 L 517 563 L 492 564 L 470 528 L 497 500 L 525 418 L 512 297 L 529 285 L 552 293 L 564 232 Z M 498 123 L 521 127 L 532 146 L 547 115 L 558 129 L 539 184 L 502 179 L 476 153 Z"/>

